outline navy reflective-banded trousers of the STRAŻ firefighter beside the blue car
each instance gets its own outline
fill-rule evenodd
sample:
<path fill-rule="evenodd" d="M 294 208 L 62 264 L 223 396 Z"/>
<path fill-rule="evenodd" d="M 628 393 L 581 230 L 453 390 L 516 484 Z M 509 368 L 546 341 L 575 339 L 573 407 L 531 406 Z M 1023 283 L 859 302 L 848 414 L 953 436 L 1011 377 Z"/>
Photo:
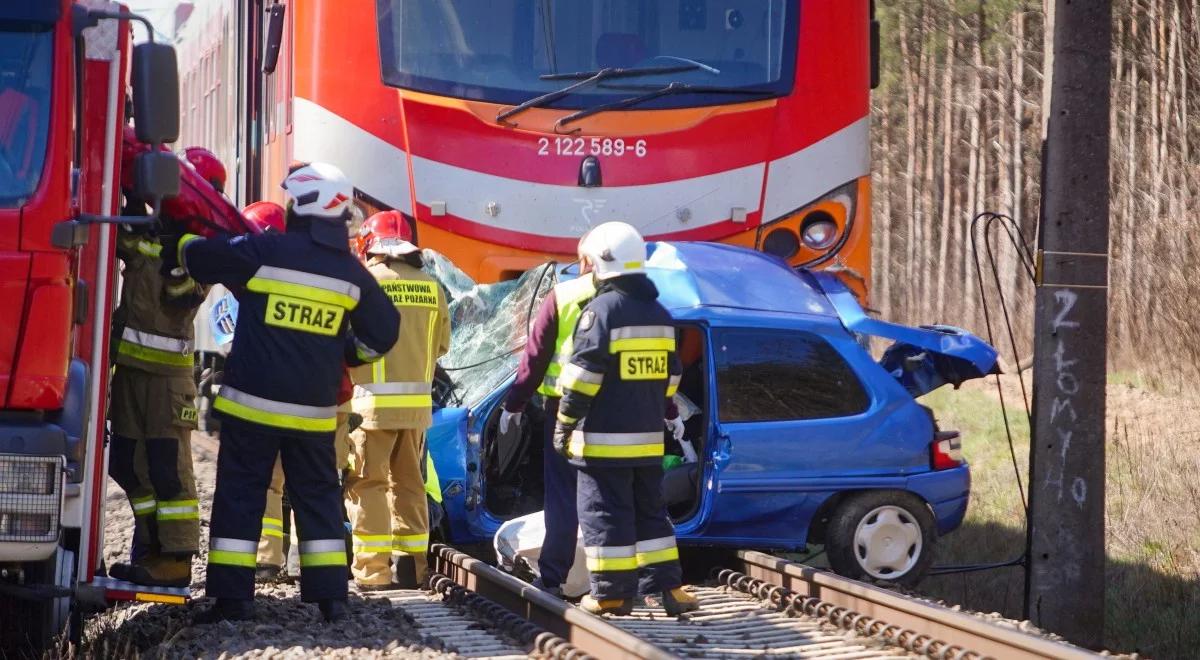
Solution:
<path fill-rule="evenodd" d="M 661 464 L 578 468 L 577 503 L 595 599 L 631 599 L 683 584 Z"/>

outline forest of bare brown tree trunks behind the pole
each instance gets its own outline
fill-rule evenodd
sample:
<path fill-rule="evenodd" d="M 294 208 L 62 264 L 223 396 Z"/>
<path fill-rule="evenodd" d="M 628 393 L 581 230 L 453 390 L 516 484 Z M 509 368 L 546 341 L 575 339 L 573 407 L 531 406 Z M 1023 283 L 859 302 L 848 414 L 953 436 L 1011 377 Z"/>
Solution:
<path fill-rule="evenodd" d="M 872 95 L 874 299 L 883 318 L 985 331 L 971 220 L 1015 218 L 1036 240 L 1052 0 L 878 0 Z M 1048 6 L 1049 5 L 1049 6 Z M 1115 0 L 1110 346 L 1112 371 L 1183 388 L 1200 371 L 1200 2 Z M 1033 286 L 994 224 L 998 289 L 1027 362 Z M 978 228 L 982 236 L 983 228 Z M 984 292 L 1002 323 L 983 244 Z M 998 325 L 997 325 L 998 326 Z"/>

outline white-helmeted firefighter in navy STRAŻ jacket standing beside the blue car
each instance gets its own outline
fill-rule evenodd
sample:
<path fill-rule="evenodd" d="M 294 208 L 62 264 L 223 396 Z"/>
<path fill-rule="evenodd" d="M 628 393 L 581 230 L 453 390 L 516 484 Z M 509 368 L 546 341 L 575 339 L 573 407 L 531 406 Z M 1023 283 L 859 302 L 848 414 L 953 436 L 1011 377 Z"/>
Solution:
<path fill-rule="evenodd" d="M 553 442 L 578 468 L 592 582 L 581 606 L 628 614 L 638 592 L 661 593 L 667 613 L 677 616 L 698 605 L 682 588 L 674 528 L 662 502 L 662 421 L 680 372 L 674 328 L 644 275 L 646 244 L 636 229 L 600 224 L 580 252 L 596 295 L 580 314 L 571 358 L 558 378 L 563 400 Z"/>

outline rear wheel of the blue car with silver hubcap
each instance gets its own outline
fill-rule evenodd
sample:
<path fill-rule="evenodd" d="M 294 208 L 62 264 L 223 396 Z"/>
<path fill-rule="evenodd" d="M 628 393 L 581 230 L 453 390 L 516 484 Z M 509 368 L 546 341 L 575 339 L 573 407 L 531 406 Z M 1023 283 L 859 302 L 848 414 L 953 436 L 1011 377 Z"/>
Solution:
<path fill-rule="evenodd" d="M 842 502 L 826 530 L 826 554 L 839 575 L 911 587 L 934 560 L 937 528 L 919 497 L 866 491 Z"/>

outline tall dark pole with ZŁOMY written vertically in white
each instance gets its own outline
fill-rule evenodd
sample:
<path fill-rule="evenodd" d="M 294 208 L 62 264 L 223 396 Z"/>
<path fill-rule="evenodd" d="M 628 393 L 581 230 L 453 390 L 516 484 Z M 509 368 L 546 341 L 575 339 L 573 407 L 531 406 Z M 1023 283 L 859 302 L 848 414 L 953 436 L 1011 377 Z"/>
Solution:
<path fill-rule="evenodd" d="M 1111 0 L 1056 0 L 1034 312 L 1026 616 L 1104 641 Z"/>

